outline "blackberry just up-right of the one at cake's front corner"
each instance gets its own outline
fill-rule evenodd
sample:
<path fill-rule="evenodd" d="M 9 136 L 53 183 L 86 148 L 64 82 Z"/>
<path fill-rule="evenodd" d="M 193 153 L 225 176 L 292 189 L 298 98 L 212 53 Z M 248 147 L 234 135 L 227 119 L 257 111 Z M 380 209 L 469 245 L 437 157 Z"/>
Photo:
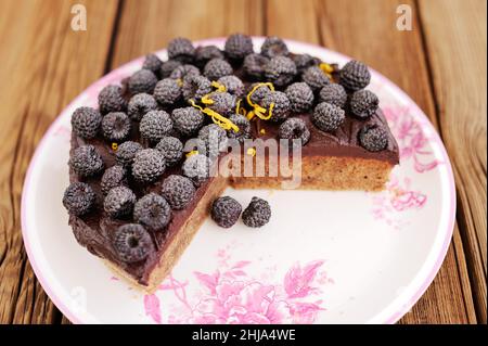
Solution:
<path fill-rule="evenodd" d="M 171 219 L 171 207 L 164 197 L 152 192 L 136 203 L 133 219 L 150 231 L 162 231 Z"/>

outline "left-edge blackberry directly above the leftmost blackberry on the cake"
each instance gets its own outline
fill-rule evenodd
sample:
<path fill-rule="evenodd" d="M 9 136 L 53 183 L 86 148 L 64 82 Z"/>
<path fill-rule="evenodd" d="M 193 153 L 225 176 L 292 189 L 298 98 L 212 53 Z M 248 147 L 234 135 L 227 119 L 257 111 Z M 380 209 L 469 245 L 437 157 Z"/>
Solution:
<path fill-rule="evenodd" d="M 102 171 L 104 164 L 97 149 L 89 144 L 73 151 L 69 167 L 80 177 L 92 177 Z"/>

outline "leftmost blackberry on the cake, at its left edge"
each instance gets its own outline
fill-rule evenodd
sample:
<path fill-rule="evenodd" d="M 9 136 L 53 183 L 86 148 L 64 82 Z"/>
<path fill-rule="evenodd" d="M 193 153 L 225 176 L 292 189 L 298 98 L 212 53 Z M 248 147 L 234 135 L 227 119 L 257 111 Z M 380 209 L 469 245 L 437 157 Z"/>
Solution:
<path fill-rule="evenodd" d="M 63 195 L 63 205 L 72 215 L 81 216 L 91 210 L 95 194 L 88 183 L 75 181 L 67 187 Z"/>

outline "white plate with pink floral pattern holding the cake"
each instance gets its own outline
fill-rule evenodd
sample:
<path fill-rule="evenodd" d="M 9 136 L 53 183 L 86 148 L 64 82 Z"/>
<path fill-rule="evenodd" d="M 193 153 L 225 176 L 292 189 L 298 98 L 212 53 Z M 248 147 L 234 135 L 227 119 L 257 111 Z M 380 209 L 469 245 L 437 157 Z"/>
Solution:
<path fill-rule="evenodd" d="M 255 38 L 259 47 L 262 38 Z M 223 39 L 201 44 L 223 46 Z M 343 65 L 349 59 L 287 41 Z M 166 57 L 166 52 L 158 52 Z M 74 100 L 30 163 L 22 198 L 24 243 L 43 289 L 76 323 L 393 323 L 437 273 L 452 235 L 455 195 L 449 158 L 414 102 L 372 72 L 370 89 L 400 145 L 401 164 L 382 193 L 227 191 L 246 205 L 266 197 L 266 227 L 203 226 L 153 295 L 137 292 L 79 246 L 61 200 L 68 185 L 69 118 L 95 105 L 105 85 L 140 68 L 132 61 Z"/>

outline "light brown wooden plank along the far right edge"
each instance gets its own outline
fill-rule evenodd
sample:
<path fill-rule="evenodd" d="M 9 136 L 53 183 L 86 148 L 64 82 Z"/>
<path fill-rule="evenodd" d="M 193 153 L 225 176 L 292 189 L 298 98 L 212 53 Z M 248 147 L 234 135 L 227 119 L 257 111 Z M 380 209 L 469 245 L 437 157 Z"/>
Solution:
<path fill-rule="evenodd" d="M 487 3 L 419 1 L 479 322 L 487 322 Z"/>

